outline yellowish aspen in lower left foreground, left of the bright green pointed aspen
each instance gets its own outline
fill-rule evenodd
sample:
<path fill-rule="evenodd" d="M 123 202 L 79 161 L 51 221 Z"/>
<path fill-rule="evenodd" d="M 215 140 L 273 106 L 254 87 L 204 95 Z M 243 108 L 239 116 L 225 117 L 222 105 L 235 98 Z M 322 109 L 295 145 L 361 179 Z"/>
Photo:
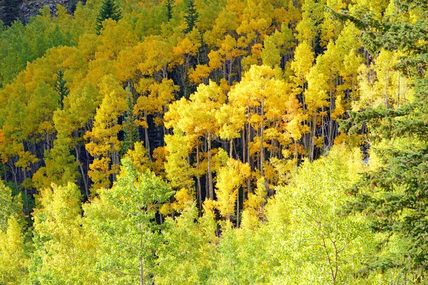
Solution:
<path fill-rule="evenodd" d="M 78 187 L 52 185 L 36 202 L 31 284 L 95 284 L 96 239 L 82 227 Z"/>

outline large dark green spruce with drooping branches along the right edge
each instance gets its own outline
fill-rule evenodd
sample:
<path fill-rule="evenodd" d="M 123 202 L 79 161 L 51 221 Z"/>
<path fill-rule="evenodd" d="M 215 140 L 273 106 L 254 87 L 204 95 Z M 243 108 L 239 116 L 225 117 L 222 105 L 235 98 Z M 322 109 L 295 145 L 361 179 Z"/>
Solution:
<path fill-rule="evenodd" d="M 342 125 L 355 133 L 367 123 L 370 143 L 378 146 L 374 151 L 382 165 L 363 175 L 352 188 L 356 199 L 349 209 L 363 212 L 374 231 L 387 233 L 379 249 L 395 243 L 390 254 L 379 252 L 362 272 L 398 268 L 412 284 L 428 281 L 427 4 L 427 0 L 395 0 L 396 14 L 383 19 L 368 13 L 358 18 L 336 14 L 362 30 L 362 41 L 372 55 L 382 48 L 400 51 L 404 56 L 395 68 L 414 81 L 412 103 L 397 109 L 378 107 L 350 113 Z M 406 21 L 413 13 L 418 16 Z"/>

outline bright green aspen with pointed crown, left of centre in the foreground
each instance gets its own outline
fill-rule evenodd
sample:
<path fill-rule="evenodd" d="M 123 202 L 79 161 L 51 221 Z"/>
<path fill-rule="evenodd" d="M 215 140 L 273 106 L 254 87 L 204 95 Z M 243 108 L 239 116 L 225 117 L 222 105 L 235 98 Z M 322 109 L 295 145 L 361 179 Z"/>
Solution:
<path fill-rule="evenodd" d="M 162 242 L 156 213 L 172 192 L 151 172 L 138 173 L 129 160 L 111 190 L 85 205 L 86 224 L 99 239 L 96 270 L 101 284 L 146 284 L 153 279 Z"/>

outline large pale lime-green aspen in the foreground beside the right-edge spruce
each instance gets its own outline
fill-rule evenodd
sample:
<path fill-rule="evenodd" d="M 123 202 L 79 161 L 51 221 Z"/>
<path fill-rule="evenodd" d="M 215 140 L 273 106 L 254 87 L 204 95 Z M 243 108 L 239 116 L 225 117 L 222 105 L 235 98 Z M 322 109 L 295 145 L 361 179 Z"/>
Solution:
<path fill-rule="evenodd" d="M 340 211 L 360 171 L 360 152 L 333 147 L 329 155 L 304 162 L 290 184 L 277 189 L 267 206 L 267 250 L 278 262 L 273 283 L 359 284 L 354 274 L 379 239 L 361 215 Z"/>

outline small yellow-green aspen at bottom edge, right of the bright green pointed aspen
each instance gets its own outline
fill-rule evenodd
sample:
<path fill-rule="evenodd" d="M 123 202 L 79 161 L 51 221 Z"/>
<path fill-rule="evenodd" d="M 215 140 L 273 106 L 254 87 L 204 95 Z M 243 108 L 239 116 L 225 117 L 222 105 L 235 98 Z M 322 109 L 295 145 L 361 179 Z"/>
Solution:
<path fill-rule="evenodd" d="M 215 261 L 215 229 L 210 212 L 198 217 L 195 203 L 177 219 L 165 219 L 164 242 L 158 249 L 156 284 L 206 284 Z"/>

